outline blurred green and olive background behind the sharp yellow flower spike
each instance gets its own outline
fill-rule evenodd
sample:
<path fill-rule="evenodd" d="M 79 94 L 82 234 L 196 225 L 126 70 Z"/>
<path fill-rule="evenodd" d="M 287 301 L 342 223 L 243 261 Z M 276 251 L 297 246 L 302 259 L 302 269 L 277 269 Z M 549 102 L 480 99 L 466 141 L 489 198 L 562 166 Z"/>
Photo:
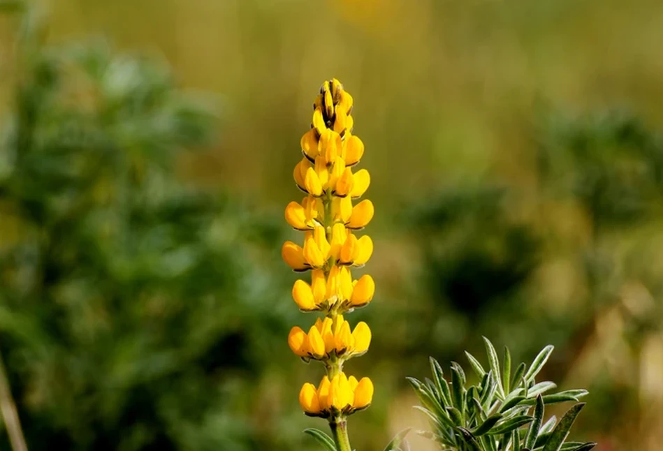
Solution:
<path fill-rule="evenodd" d="M 365 142 L 357 450 L 481 335 L 590 390 L 574 437 L 663 443 L 663 3 L 0 2 L 0 351 L 29 449 L 315 450 L 282 263 L 321 82 Z M 485 360 L 484 360 L 485 361 Z M 8 448 L 1 432 L 2 449 Z M 432 450 L 411 434 L 414 450 Z"/>

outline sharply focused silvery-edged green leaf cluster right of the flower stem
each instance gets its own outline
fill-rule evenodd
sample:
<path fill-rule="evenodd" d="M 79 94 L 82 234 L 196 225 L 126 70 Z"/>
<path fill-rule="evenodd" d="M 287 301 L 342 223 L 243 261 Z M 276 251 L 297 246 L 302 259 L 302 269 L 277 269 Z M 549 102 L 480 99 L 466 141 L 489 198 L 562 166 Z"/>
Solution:
<path fill-rule="evenodd" d="M 596 443 L 567 442 L 576 416 L 585 404 L 574 404 L 558 421 L 553 415 L 544 421 L 548 404 L 578 401 L 586 390 L 553 392 L 555 383 L 535 380 L 553 346 L 546 346 L 532 364 L 519 364 L 511 371 L 511 355 L 504 349 L 500 364 L 493 343 L 484 337 L 488 367 L 466 353 L 477 385 L 467 386 L 465 371 L 451 364 L 451 383 L 442 367 L 431 357 L 432 380 L 409 378 L 428 416 L 432 431 L 421 434 L 439 443 L 445 451 L 587 451 Z"/>

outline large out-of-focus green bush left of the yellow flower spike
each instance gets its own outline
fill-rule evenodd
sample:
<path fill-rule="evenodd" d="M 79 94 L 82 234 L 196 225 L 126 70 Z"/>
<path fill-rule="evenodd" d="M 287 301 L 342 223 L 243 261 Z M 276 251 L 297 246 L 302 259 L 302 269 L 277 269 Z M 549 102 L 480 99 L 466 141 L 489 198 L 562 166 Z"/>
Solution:
<path fill-rule="evenodd" d="M 232 412 L 251 411 L 286 330 L 264 268 L 281 230 L 173 176 L 212 105 L 103 43 L 23 48 L 0 147 L 0 343 L 29 448 L 258 448 Z"/>

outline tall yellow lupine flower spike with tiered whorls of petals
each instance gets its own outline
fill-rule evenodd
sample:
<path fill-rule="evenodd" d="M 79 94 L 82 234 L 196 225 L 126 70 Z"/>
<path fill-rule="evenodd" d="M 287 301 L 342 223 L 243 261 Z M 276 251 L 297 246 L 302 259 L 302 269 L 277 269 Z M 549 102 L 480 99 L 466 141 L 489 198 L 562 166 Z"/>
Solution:
<path fill-rule="evenodd" d="M 352 97 L 338 80 L 323 83 L 313 105 L 312 126 L 302 137 L 303 158 L 293 177 L 306 193 L 302 202 L 290 202 L 286 221 L 304 232 L 303 245 L 286 242 L 285 262 L 296 272 L 310 270 L 292 289 L 301 311 L 320 311 L 324 318 L 305 332 L 293 327 L 288 343 L 303 360 L 319 360 L 327 375 L 319 387 L 305 384 L 300 404 L 307 415 L 327 417 L 332 424 L 345 415 L 367 407 L 373 385 L 369 378 L 357 380 L 342 372 L 345 360 L 362 355 L 370 345 L 371 332 L 360 322 L 351 330 L 343 313 L 371 302 L 375 284 L 365 274 L 352 278 L 351 269 L 362 267 L 373 253 L 373 242 L 356 232 L 373 217 L 373 204 L 360 198 L 370 185 L 370 175 L 353 172 L 364 153 L 361 140 L 352 134 Z"/>

